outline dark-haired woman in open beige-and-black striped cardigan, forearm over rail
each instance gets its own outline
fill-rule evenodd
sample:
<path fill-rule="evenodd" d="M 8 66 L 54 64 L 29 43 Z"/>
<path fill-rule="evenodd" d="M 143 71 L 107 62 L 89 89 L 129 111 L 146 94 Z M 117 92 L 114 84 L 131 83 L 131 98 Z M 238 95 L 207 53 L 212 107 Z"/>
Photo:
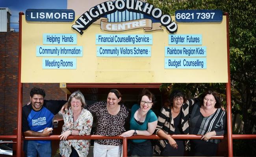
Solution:
<path fill-rule="evenodd" d="M 170 99 L 161 108 L 158 116 L 156 134 L 163 138 L 155 146 L 161 156 L 184 156 L 185 141 L 174 140 L 168 134 L 187 134 L 189 132 L 189 106 L 194 100 L 187 100 L 182 91 L 174 90 Z"/>

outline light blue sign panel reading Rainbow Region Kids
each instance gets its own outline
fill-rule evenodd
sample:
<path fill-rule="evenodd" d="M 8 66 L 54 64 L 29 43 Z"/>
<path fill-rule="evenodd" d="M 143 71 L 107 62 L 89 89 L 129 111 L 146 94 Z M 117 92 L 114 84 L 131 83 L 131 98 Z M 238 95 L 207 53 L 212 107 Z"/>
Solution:
<path fill-rule="evenodd" d="M 165 57 L 206 57 L 206 46 L 165 46 Z"/>

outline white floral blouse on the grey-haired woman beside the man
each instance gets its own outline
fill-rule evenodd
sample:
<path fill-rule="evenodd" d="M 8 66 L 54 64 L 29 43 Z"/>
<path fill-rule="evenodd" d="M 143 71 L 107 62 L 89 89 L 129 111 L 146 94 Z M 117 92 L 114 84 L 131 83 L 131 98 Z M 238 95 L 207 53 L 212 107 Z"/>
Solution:
<path fill-rule="evenodd" d="M 67 130 L 78 130 L 79 135 L 90 135 L 91 127 L 93 124 L 93 115 L 88 110 L 82 108 L 81 114 L 74 122 L 74 116 L 71 108 L 62 113 L 64 119 L 64 125 L 62 132 Z M 69 157 L 71 154 L 71 145 L 76 150 L 80 157 L 86 157 L 89 153 L 90 140 L 61 140 L 59 142 L 59 150 L 61 157 Z"/>

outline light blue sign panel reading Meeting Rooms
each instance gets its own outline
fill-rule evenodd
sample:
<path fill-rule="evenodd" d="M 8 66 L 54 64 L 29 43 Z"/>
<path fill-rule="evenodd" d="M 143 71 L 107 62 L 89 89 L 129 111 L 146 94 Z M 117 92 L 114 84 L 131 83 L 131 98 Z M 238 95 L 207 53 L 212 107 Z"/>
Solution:
<path fill-rule="evenodd" d="M 43 69 L 76 69 L 76 58 L 43 58 Z"/>

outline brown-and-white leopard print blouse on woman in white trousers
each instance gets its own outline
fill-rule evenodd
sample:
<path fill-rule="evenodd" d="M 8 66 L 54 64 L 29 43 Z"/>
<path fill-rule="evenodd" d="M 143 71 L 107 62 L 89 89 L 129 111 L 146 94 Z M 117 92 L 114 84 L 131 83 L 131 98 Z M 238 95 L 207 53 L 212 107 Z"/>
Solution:
<path fill-rule="evenodd" d="M 102 136 L 118 136 L 125 132 L 124 123 L 128 120 L 129 111 L 126 106 L 121 105 L 119 113 L 117 115 L 110 115 L 107 110 L 107 102 L 95 102 L 94 104 L 87 106 L 93 116 L 97 117 L 95 135 Z M 100 139 L 95 140 L 98 144 L 120 146 L 122 140 L 119 139 Z"/>

